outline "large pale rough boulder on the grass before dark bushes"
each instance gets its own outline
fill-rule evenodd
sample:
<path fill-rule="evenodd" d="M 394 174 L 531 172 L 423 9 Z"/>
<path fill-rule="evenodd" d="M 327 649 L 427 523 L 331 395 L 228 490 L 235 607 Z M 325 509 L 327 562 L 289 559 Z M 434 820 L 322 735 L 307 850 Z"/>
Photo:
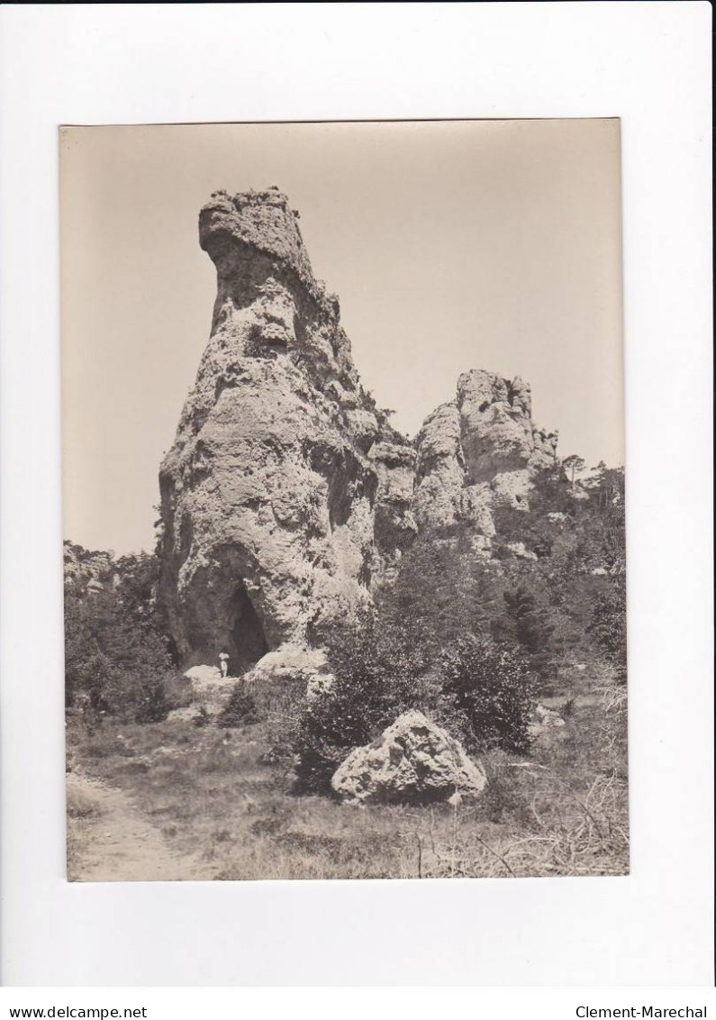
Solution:
<path fill-rule="evenodd" d="M 421 712 L 404 712 L 336 770 L 330 785 L 349 804 L 425 804 L 477 797 L 482 769 Z"/>

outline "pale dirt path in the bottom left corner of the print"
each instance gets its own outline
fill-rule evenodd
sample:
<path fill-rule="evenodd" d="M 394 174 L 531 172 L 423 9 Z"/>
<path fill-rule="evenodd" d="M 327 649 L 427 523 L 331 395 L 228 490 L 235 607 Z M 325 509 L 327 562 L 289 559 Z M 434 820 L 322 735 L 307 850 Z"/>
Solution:
<path fill-rule="evenodd" d="M 215 869 L 170 849 L 120 789 L 67 776 L 67 877 L 70 881 L 201 881 Z"/>

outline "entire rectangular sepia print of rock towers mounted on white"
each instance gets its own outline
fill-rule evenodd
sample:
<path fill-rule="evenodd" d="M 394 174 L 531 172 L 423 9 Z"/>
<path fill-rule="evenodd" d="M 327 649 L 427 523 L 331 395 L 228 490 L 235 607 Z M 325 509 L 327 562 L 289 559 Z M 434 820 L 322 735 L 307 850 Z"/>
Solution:
<path fill-rule="evenodd" d="M 618 121 L 60 145 L 68 877 L 625 873 Z"/>

